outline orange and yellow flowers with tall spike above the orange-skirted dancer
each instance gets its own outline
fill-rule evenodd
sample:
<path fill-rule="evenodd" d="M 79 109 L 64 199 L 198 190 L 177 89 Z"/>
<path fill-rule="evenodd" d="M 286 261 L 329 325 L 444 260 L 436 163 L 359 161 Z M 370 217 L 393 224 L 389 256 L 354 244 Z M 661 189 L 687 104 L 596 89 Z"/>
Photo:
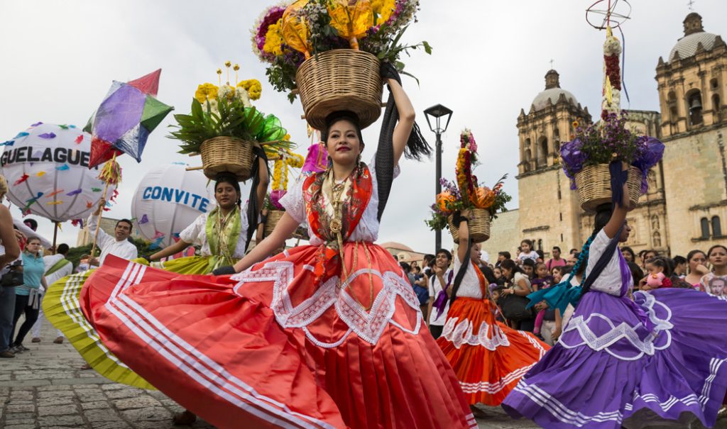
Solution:
<path fill-rule="evenodd" d="M 497 213 L 507 211 L 505 205 L 513 199 L 502 190 L 507 174 L 492 189 L 478 184 L 477 177 L 472 173 L 472 166 L 477 165 L 477 143 L 469 129 L 462 131 L 460 143 L 455 168 L 457 182 L 441 179 L 444 189 L 436 196 L 435 203 L 431 206 L 432 215 L 425 221 L 433 230 L 445 229 L 449 216 L 466 208 L 485 209 L 491 218 L 497 218 Z"/>

